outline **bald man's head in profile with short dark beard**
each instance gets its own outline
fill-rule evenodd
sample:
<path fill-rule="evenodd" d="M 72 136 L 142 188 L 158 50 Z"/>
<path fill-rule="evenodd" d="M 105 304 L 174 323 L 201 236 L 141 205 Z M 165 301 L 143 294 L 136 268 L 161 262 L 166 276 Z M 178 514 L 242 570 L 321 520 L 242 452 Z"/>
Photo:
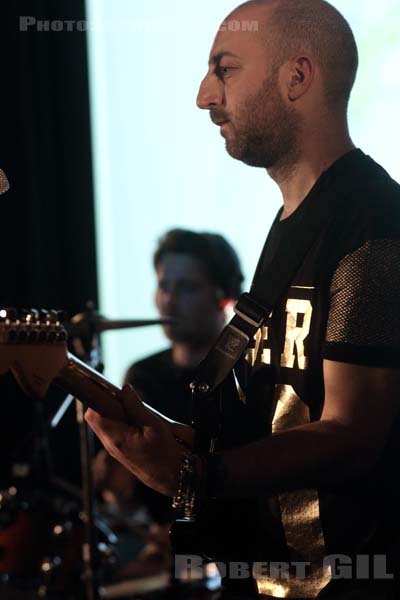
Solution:
<path fill-rule="evenodd" d="M 357 65 L 349 25 L 324 0 L 251 0 L 220 28 L 197 103 L 225 123 L 231 156 L 290 166 L 312 127 L 345 121 Z"/>

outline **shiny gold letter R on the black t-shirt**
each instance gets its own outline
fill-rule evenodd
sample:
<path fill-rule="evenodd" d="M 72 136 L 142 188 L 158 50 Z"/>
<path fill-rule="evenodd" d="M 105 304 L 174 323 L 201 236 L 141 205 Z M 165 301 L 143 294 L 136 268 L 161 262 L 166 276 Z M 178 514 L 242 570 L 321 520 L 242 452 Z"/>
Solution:
<path fill-rule="evenodd" d="M 281 367 L 293 369 L 297 350 L 298 367 L 302 371 L 308 367 L 308 358 L 304 352 L 304 340 L 310 333 L 312 304 L 309 300 L 288 298 L 286 303 L 285 347 L 281 354 Z M 300 323 L 299 323 L 300 320 Z"/>

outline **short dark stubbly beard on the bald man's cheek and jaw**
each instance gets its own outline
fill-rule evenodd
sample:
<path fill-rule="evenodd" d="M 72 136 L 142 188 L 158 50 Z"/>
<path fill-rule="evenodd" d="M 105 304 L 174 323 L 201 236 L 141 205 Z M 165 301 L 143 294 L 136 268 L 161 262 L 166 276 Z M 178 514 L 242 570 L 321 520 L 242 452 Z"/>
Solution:
<path fill-rule="evenodd" d="M 299 154 L 301 119 L 286 106 L 278 90 L 278 76 L 268 77 L 261 89 L 239 106 L 235 124 L 227 126 L 226 149 L 252 167 L 290 168 Z"/>

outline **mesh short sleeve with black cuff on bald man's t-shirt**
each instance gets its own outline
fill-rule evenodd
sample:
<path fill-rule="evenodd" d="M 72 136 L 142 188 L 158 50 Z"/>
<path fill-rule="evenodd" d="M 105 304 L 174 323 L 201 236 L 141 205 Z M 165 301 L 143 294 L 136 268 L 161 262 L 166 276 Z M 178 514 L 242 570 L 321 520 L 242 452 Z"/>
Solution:
<path fill-rule="evenodd" d="M 400 240 L 373 240 L 339 263 L 331 282 L 324 358 L 400 366 Z"/>

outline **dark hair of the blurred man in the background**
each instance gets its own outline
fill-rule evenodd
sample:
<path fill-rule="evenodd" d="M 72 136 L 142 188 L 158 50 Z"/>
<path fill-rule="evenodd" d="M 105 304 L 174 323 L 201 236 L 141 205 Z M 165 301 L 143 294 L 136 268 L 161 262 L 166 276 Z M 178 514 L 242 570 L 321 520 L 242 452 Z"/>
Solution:
<path fill-rule="evenodd" d="M 170 252 L 189 254 L 199 260 L 210 281 L 221 288 L 226 298 L 240 296 L 243 274 L 239 257 L 222 235 L 171 229 L 158 242 L 153 257 L 155 268 Z"/>

